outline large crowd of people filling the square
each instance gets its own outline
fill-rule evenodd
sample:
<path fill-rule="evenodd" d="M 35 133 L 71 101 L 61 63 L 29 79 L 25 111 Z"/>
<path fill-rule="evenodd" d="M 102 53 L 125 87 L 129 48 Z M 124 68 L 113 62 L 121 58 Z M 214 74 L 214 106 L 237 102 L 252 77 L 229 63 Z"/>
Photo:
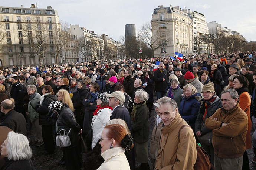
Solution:
<path fill-rule="evenodd" d="M 71 144 L 61 147 L 59 164 L 68 170 L 193 169 L 196 143 L 217 170 L 247 170 L 256 129 L 255 57 L 238 51 L 5 68 L 0 159 L 6 163 L 0 160 L 0 170 L 33 169 L 30 146 L 53 154 L 63 131 Z M 25 136 L 30 130 L 33 140 Z"/>

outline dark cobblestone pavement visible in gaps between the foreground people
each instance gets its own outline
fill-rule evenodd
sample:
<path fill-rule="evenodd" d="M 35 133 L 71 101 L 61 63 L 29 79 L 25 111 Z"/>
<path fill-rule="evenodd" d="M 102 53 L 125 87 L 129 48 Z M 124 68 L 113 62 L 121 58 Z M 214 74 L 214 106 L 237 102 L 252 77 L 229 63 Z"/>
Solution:
<path fill-rule="evenodd" d="M 156 101 L 156 96 L 154 96 L 154 101 Z M 155 109 L 155 106 L 154 106 L 154 109 Z M 156 116 L 156 112 L 152 111 L 152 116 L 149 119 L 149 125 L 150 125 L 149 139 L 151 138 L 151 133 L 154 128 L 155 116 Z M 252 130 L 251 136 L 252 136 L 253 132 L 254 131 Z M 30 135 L 28 135 L 28 137 L 30 139 L 32 139 L 32 141 L 33 141 L 32 133 Z M 149 149 L 149 146 L 150 146 L 150 140 L 148 141 L 148 149 Z M 43 154 L 44 151 L 45 151 L 44 145 L 41 145 L 39 147 L 32 146 L 33 157 L 31 160 L 34 164 L 35 170 L 65 170 L 66 169 L 66 166 L 58 165 L 58 162 L 62 158 L 62 150 L 60 149 L 60 147 L 56 147 L 55 153 L 53 153 L 53 154 L 45 155 L 45 154 Z M 248 149 L 247 153 L 248 153 L 248 157 L 249 157 L 250 170 L 256 170 L 256 164 L 252 163 L 252 159 L 255 158 L 254 154 L 253 154 L 253 149 Z M 82 154 L 82 155 L 83 155 L 83 160 L 84 160 L 85 154 Z M 150 163 L 150 160 L 149 160 L 149 163 Z M 136 165 L 138 166 L 139 163 L 137 163 Z"/>

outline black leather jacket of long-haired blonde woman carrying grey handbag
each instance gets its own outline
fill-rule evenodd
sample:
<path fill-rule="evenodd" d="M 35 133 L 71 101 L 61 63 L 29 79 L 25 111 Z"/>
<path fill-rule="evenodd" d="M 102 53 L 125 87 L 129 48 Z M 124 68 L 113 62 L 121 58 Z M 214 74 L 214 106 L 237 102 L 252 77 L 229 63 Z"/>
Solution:
<path fill-rule="evenodd" d="M 57 126 L 58 126 L 58 132 L 61 129 L 65 129 L 67 132 L 69 132 L 70 128 L 71 131 L 69 133 L 69 137 L 71 140 L 71 145 L 68 147 L 62 147 L 62 149 L 69 149 L 71 147 L 77 146 L 79 143 L 81 128 L 78 123 L 76 123 L 76 120 L 74 119 L 74 113 L 72 110 L 68 107 L 68 105 L 63 104 L 59 117 L 57 119 Z M 60 134 L 59 134 L 60 135 Z M 63 132 L 61 132 L 61 135 L 63 135 Z"/>

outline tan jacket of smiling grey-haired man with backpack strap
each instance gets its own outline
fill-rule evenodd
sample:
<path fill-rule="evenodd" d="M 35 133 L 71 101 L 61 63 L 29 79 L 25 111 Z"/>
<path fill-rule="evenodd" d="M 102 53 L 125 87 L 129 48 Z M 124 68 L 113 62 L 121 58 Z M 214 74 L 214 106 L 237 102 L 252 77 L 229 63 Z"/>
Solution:
<path fill-rule="evenodd" d="M 178 142 L 178 132 L 183 125 L 188 124 L 180 114 L 177 114 L 170 125 L 161 130 L 156 170 L 194 169 L 193 166 L 197 159 L 196 139 L 193 130 L 190 127 L 184 127 L 180 131 L 180 142 Z"/>

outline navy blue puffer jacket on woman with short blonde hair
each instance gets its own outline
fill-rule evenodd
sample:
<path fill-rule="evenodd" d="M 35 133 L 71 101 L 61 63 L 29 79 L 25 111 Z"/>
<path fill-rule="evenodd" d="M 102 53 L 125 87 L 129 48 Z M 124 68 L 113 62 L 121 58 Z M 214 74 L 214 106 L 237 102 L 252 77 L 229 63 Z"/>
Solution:
<path fill-rule="evenodd" d="M 195 130 L 195 122 L 197 119 L 197 113 L 201 106 L 201 95 L 196 93 L 189 98 L 184 96 L 180 103 L 179 113 L 182 119 L 184 119 L 188 125 Z"/>

